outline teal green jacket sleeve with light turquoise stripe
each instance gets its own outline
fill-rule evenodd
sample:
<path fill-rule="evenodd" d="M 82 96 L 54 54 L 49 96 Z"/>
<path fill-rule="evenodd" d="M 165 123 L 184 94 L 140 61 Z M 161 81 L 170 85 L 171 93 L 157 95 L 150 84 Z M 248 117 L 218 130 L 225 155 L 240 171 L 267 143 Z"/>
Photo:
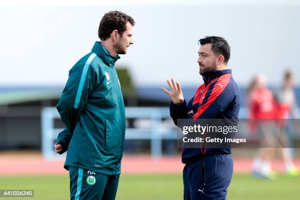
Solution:
<path fill-rule="evenodd" d="M 89 59 L 85 64 L 75 65 L 70 70 L 69 79 L 56 105 L 63 123 L 71 134 L 73 134 L 88 97 L 97 83 L 98 75 L 94 67 L 88 63 Z"/>

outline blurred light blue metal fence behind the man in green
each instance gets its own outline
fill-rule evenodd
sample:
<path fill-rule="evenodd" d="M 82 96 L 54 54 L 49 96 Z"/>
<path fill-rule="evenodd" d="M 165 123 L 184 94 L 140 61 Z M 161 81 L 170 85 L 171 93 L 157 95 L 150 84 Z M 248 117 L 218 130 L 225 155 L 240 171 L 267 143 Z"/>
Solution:
<path fill-rule="evenodd" d="M 168 107 L 126 107 L 126 119 L 147 119 L 150 125 L 146 127 L 127 127 L 125 139 L 150 140 L 151 155 L 162 155 L 162 140 L 176 139 L 176 127 L 165 123 L 164 119 L 170 119 Z M 54 127 L 55 118 L 60 118 L 54 107 L 46 107 L 42 110 L 42 153 L 46 159 L 64 158 L 54 152 L 53 142 L 62 128 Z M 170 121 L 169 121 L 170 122 Z M 173 123 L 172 123 L 173 124 Z"/>

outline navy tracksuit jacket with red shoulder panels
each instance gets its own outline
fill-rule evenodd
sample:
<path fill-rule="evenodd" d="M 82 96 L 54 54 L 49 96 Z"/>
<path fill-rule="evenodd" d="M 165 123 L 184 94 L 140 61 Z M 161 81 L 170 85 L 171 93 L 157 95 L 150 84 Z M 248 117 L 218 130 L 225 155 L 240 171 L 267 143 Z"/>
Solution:
<path fill-rule="evenodd" d="M 236 119 L 241 105 L 240 89 L 233 80 L 231 70 L 205 72 L 204 83 L 188 102 L 175 105 L 171 101 L 170 114 L 177 119 Z M 193 110 L 194 114 L 188 114 Z M 183 148 L 182 162 L 187 164 L 211 154 L 230 154 L 231 148 Z"/>

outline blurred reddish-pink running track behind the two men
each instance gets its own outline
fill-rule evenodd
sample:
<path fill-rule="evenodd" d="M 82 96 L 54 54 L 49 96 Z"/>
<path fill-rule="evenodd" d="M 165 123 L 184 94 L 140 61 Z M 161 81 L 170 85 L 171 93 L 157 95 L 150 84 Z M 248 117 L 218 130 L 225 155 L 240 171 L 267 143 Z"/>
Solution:
<path fill-rule="evenodd" d="M 47 161 L 40 153 L 0 153 L 0 175 L 67 175 L 64 160 Z M 300 167 L 300 159 L 295 161 Z M 153 159 L 150 156 L 125 155 L 122 160 L 122 174 L 177 174 L 182 173 L 180 156 L 164 156 Z M 284 171 L 281 160 L 275 160 L 272 168 Z M 234 173 L 250 173 L 250 158 L 234 158 Z"/>

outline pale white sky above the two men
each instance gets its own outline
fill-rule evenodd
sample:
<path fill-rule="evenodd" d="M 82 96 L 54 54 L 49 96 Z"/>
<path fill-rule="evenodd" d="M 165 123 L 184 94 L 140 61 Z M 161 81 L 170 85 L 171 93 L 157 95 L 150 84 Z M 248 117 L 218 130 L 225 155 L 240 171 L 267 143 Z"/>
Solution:
<path fill-rule="evenodd" d="M 128 67 L 137 85 L 165 85 L 171 77 L 199 85 L 197 41 L 206 35 L 228 40 L 228 67 L 239 84 L 257 73 L 279 84 L 286 67 L 300 77 L 296 0 L 25 2 L 0 1 L 0 86 L 65 84 L 68 71 L 98 40 L 100 19 L 109 10 L 136 21 L 135 44 L 117 66 Z"/>

